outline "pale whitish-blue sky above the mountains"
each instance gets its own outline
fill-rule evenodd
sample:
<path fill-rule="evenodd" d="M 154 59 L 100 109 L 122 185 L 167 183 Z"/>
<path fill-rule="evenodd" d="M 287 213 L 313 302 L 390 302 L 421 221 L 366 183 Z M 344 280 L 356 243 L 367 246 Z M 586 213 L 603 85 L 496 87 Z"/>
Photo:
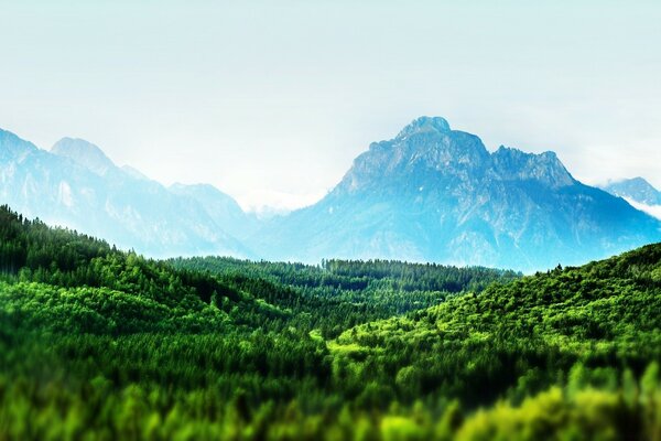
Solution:
<path fill-rule="evenodd" d="M 661 187 L 661 2 L 0 0 L 0 128 L 247 209 L 326 194 L 412 119 Z"/>

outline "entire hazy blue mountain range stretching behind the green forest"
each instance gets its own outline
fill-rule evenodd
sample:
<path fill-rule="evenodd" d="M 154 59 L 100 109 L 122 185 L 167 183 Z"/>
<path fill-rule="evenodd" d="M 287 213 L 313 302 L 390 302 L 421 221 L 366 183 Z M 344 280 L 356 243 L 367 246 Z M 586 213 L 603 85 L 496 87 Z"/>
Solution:
<path fill-rule="evenodd" d="M 636 200 L 618 189 L 607 190 Z M 421 117 L 372 143 L 322 201 L 258 220 L 210 185 L 164 187 L 87 141 L 65 138 L 46 152 L 0 131 L 1 203 L 154 257 L 387 258 L 532 271 L 661 240 L 661 222 L 616 195 L 576 181 L 553 152 L 490 153 L 445 119 Z"/>

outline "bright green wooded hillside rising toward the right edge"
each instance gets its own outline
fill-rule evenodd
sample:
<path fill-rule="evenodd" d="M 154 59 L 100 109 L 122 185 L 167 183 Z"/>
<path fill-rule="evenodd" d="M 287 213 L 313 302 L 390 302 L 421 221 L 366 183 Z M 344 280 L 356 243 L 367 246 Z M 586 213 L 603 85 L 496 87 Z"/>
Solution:
<path fill-rule="evenodd" d="M 655 244 L 357 326 L 337 338 L 335 353 L 360 354 L 354 372 L 378 366 L 413 396 L 425 390 L 421 385 L 435 385 L 467 400 L 497 399 L 507 389 L 521 399 L 562 378 L 608 388 L 622 366 L 641 373 L 661 361 L 660 294 Z M 408 354 L 412 345 L 415 357 Z M 398 373 L 392 366 L 407 367 Z"/>

